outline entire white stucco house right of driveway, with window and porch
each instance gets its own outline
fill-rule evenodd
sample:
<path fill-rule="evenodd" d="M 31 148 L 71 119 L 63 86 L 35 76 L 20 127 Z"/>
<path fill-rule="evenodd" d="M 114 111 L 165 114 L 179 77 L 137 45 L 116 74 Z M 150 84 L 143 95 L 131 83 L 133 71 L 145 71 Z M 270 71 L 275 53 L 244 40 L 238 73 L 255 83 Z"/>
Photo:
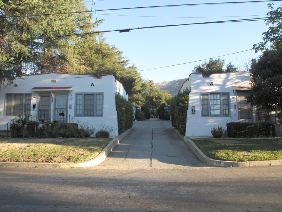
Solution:
<path fill-rule="evenodd" d="M 212 128 L 227 130 L 227 122 L 278 122 L 277 112 L 246 103 L 250 79 L 249 72 L 190 74 L 180 89 L 191 90 L 185 136 L 212 136 Z"/>

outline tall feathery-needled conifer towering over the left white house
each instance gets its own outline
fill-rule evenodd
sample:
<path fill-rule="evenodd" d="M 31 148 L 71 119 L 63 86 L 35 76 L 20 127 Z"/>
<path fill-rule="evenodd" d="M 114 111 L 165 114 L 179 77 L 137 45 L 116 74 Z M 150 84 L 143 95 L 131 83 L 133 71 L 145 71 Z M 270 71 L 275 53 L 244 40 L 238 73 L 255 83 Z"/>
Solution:
<path fill-rule="evenodd" d="M 86 13 L 66 14 L 74 8 L 86 10 L 79 0 L 0 1 L 0 41 L 3 42 L 0 44 L 0 85 L 5 80 L 11 84 L 15 77 L 26 72 L 60 69 L 68 61 L 70 57 L 66 53 L 72 52 L 78 36 L 60 36 L 82 32 L 91 18 Z M 42 15 L 49 13 L 61 14 Z"/>

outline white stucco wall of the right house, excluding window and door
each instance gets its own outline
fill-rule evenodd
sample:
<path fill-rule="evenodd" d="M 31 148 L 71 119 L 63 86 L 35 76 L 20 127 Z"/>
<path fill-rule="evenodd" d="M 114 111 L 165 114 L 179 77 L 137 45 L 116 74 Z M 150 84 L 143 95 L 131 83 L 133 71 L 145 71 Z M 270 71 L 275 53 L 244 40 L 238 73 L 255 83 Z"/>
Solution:
<path fill-rule="evenodd" d="M 249 72 L 232 72 L 222 74 L 212 74 L 203 77 L 202 74 L 190 74 L 181 87 L 191 87 L 189 94 L 189 109 L 187 110 L 187 124 L 185 136 L 212 136 L 211 129 L 219 126 L 227 129 L 226 121 L 235 115 L 238 110 L 238 99 L 233 86 L 250 86 Z M 210 85 L 213 82 L 214 85 Z M 230 93 L 230 115 L 229 116 L 202 116 L 201 93 L 209 92 L 229 92 Z M 234 107 L 235 105 L 235 107 Z M 192 114 L 192 106 L 195 106 L 195 113 Z"/>

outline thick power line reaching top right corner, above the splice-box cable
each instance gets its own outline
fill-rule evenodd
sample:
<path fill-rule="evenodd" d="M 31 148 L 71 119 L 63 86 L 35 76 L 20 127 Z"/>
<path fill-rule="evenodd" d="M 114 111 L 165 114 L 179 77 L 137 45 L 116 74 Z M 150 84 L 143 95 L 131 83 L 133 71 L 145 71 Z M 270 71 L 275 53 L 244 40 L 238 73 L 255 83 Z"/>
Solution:
<path fill-rule="evenodd" d="M 272 0 L 272 1 L 282 1 L 282 0 Z M 88 12 L 98 12 L 98 11 L 113 11 L 113 10 L 126 10 L 126 9 L 147 9 L 147 8 L 176 7 L 176 6 L 203 6 L 203 5 L 216 5 L 216 4 L 244 4 L 244 3 L 260 3 L 260 2 L 272 2 L 272 1 L 267 1 L 266 0 L 266 1 L 235 1 L 235 2 L 198 3 L 198 4 L 175 4 L 175 5 L 162 5 L 162 6 L 145 6 L 145 7 L 128 7 L 128 8 L 118 8 L 118 9 L 103 9 L 103 10 L 93 10 L 93 11 L 75 11 L 75 12 L 66 12 L 66 13 L 49 13 L 49 14 L 34 14 L 34 15 L 22 15 L 22 16 L 6 16 L 6 17 L 0 17 L 0 18 L 15 18 L 15 17 L 24 17 L 24 16 L 62 15 L 62 14 L 88 13 Z"/>

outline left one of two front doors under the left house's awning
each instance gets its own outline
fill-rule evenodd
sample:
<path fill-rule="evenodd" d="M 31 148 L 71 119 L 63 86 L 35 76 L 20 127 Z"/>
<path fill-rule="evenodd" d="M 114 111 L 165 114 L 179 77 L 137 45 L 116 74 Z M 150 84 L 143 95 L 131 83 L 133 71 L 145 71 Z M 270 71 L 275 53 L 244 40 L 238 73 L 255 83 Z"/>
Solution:
<path fill-rule="evenodd" d="M 39 95 L 38 121 L 50 121 L 50 95 Z"/>

